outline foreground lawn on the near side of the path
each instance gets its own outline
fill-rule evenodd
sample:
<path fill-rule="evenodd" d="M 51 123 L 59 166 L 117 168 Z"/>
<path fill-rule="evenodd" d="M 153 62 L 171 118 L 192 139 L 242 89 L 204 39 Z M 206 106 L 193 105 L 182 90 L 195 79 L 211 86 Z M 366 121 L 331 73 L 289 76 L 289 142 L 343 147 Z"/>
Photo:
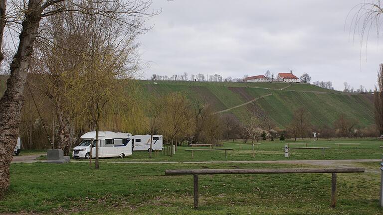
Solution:
<path fill-rule="evenodd" d="M 362 164 L 361 164 L 362 165 Z M 373 165 L 379 168 L 379 163 Z M 272 164 L 12 164 L 0 213 L 45 214 L 381 214 L 374 172 L 338 174 L 338 207 L 330 208 L 329 174 L 202 175 L 199 209 L 192 176 L 166 169 L 298 168 Z M 370 166 L 368 166 L 370 167 Z"/>

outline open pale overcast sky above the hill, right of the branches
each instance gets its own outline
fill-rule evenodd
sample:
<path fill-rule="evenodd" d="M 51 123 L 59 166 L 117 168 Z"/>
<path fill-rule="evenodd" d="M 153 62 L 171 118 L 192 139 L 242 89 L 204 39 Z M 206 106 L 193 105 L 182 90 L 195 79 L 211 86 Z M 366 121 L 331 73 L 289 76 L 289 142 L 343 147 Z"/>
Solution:
<path fill-rule="evenodd" d="M 350 10 L 361 0 L 155 0 L 161 14 L 140 37 L 152 74 L 220 74 L 241 78 L 289 72 L 312 81 L 346 81 L 373 89 L 383 43 L 370 35 L 367 54 L 350 33 Z M 352 14 L 355 10 L 352 11 Z M 366 46 L 364 43 L 363 47 Z M 361 54 L 362 53 L 362 54 Z"/>

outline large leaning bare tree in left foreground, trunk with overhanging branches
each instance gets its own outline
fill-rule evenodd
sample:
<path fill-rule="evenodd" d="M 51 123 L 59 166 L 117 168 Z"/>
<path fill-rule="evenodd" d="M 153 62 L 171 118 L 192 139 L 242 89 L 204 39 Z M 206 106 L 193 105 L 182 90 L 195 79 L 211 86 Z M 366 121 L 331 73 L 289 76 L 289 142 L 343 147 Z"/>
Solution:
<path fill-rule="evenodd" d="M 40 22 L 46 17 L 61 13 L 74 12 L 77 14 L 85 13 L 92 15 L 110 16 L 115 14 L 114 21 L 127 29 L 136 32 L 144 32 L 142 17 L 149 17 L 153 13 L 146 11 L 151 5 L 150 0 L 116 0 L 113 9 L 105 10 L 103 5 L 106 0 L 101 1 L 69 1 L 69 0 L 28 0 L 12 1 L 12 16 L 7 20 L 15 28 L 21 28 L 18 34 L 19 43 L 16 53 L 10 64 L 10 75 L 7 80 L 7 89 L 0 100 L 0 194 L 5 194 L 9 186 L 9 163 L 12 160 L 12 149 L 14 148 L 18 136 L 18 125 L 20 121 L 20 111 L 23 106 L 23 90 L 26 82 L 26 74 L 29 62 L 33 53 L 33 44 L 36 40 Z M 6 3 L 0 3 L 0 17 L 4 17 Z M 93 12 L 89 12 L 89 5 L 92 5 Z M 73 7 L 76 7 L 73 9 Z M 1 18 L 0 18 L 1 19 Z M 0 32 L 4 31 L 5 26 L 0 21 Z M 1 38 L 3 35 L 0 35 Z M 2 40 L 1 40 L 2 41 Z M 41 42 L 49 42 L 41 40 Z M 3 53 L 2 50 L 0 53 Z"/>

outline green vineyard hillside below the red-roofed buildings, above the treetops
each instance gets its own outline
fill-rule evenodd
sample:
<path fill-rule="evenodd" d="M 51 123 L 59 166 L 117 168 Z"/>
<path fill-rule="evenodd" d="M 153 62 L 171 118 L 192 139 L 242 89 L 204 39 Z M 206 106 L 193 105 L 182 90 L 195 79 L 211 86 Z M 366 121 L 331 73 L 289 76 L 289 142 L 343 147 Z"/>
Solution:
<path fill-rule="evenodd" d="M 157 84 L 154 84 L 157 83 Z M 274 123 L 285 128 L 299 107 L 307 108 L 312 123 L 332 125 L 341 113 L 360 121 L 361 126 L 374 123 L 374 97 L 371 94 L 346 94 L 300 83 L 228 83 L 138 81 L 143 96 L 151 97 L 169 92 L 185 92 L 192 101 L 205 101 L 216 111 L 232 113 L 238 119 L 246 117 L 246 105 L 251 100 Z M 239 107 L 237 107 L 239 106 Z M 231 108 L 231 109 L 230 109 Z"/>

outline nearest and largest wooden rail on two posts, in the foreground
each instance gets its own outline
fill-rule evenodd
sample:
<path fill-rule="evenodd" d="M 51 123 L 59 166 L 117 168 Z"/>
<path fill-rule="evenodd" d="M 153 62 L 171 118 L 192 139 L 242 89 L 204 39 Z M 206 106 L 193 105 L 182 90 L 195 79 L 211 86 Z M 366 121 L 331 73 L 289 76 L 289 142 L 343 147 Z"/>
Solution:
<path fill-rule="evenodd" d="M 337 204 L 337 173 L 361 173 L 364 168 L 309 168 L 309 169 L 181 169 L 165 170 L 165 175 L 193 175 L 194 208 L 198 208 L 198 175 L 214 174 L 296 174 L 296 173 L 331 173 L 331 207 Z"/>

